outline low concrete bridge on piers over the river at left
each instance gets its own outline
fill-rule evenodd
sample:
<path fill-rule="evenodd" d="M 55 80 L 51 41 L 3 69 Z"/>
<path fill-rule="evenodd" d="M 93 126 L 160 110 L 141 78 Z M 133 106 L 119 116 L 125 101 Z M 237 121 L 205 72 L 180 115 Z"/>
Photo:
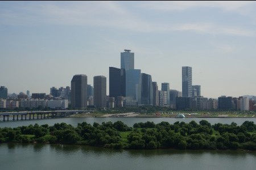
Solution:
<path fill-rule="evenodd" d="M 9 121 L 9 117 L 13 116 L 14 120 L 29 120 L 35 119 L 35 116 L 37 119 L 43 119 L 43 118 L 55 118 L 55 117 L 67 117 L 71 114 L 77 114 L 77 113 L 88 113 L 92 111 L 87 110 L 71 110 L 71 111 L 31 111 L 31 112 L 2 112 L 0 113 L 0 120 L 1 117 L 3 117 L 3 121 Z M 28 116 L 28 117 L 27 117 Z M 19 119 L 20 117 L 20 119 Z"/>

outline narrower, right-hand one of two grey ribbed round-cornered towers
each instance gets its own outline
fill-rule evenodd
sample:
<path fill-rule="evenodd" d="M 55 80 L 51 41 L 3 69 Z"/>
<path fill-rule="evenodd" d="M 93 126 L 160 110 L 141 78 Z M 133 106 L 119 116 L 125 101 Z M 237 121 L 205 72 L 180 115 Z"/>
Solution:
<path fill-rule="evenodd" d="M 106 108 L 106 77 L 103 75 L 93 77 L 93 104 L 96 108 Z"/>

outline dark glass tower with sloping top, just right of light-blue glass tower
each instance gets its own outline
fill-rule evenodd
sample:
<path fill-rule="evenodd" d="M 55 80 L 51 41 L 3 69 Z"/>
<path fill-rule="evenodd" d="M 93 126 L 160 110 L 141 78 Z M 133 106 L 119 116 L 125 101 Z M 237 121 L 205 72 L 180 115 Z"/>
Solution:
<path fill-rule="evenodd" d="M 153 105 L 153 87 L 151 75 L 141 74 L 141 104 Z"/>

